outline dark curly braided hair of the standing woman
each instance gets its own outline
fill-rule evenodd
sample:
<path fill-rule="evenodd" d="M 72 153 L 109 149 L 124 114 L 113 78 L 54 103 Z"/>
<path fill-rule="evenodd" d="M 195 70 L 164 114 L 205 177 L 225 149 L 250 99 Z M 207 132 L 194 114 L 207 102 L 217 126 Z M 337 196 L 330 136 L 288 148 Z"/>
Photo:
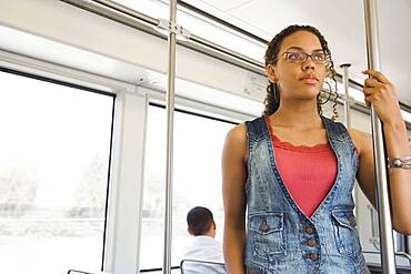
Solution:
<path fill-rule="evenodd" d="M 334 120 L 338 116 L 337 100 L 339 98 L 339 95 L 337 93 L 337 80 L 335 80 L 335 74 L 337 73 L 335 73 L 335 70 L 334 70 L 334 63 L 331 60 L 331 51 L 328 47 L 328 42 L 325 41 L 324 37 L 320 33 L 320 31 L 318 29 L 315 29 L 314 27 L 311 27 L 311 26 L 299 26 L 299 24 L 289 26 L 285 29 L 283 29 L 268 44 L 265 55 L 264 55 L 265 68 L 269 64 L 275 64 L 277 63 L 277 59 L 278 59 L 278 54 L 280 52 L 282 41 L 287 37 L 293 34 L 297 31 L 301 31 L 301 30 L 309 31 L 312 34 L 314 34 L 315 37 L 318 37 L 318 39 L 320 40 L 320 43 L 321 43 L 321 48 L 325 53 L 324 65 L 325 65 L 327 77 L 329 77 L 331 79 L 331 81 L 333 81 L 334 90 L 332 90 L 330 83 L 325 82 L 329 85 L 330 90 L 321 90 L 321 92 L 317 97 L 317 110 L 318 110 L 318 113 L 321 115 L 322 114 L 321 105 L 327 103 L 331 99 L 333 101 L 332 119 Z M 325 98 L 325 101 L 321 101 L 321 98 Z M 267 87 L 267 97 L 265 97 L 265 100 L 264 100 L 264 105 L 265 105 L 265 109 L 264 109 L 264 112 L 263 112 L 264 115 L 271 115 L 280 106 L 280 87 L 279 87 L 278 83 L 272 83 L 270 81 L 270 84 Z"/>

